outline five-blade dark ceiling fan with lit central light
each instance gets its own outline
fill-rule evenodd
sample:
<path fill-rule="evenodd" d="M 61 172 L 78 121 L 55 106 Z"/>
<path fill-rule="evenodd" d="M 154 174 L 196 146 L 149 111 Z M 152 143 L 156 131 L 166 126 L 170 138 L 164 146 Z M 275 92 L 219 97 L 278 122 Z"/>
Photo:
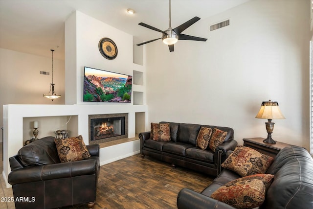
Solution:
<path fill-rule="evenodd" d="M 170 16 L 170 18 L 169 18 L 170 25 L 169 25 L 169 28 L 167 30 L 162 31 L 162 30 L 157 29 L 157 28 L 155 28 L 151 25 L 148 25 L 146 23 L 139 23 L 139 25 L 141 25 L 141 26 L 147 27 L 151 30 L 161 32 L 162 37 L 157 38 L 157 39 L 153 39 L 153 40 L 141 43 L 141 44 L 137 44 L 137 46 L 141 46 L 144 44 L 148 44 L 150 42 L 154 42 L 158 39 L 162 39 L 163 43 L 167 44 L 169 49 L 170 49 L 170 52 L 172 52 L 172 51 L 174 51 L 174 44 L 177 43 L 178 40 L 191 40 L 191 41 L 202 41 L 202 42 L 205 42 L 207 40 L 205 38 L 200 38 L 200 37 L 196 37 L 196 36 L 189 36 L 189 35 L 185 35 L 185 34 L 181 33 L 182 31 L 184 31 L 185 29 L 190 27 L 193 23 L 196 23 L 197 21 L 199 21 L 200 20 L 199 17 L 194 17 L 194 18 L 190 19 L 189 21 L 187 21 L 186 23 L 182 23 L 178 27 L 172 29 L 172 27 L 171 27 L 171 0 L 169 0 L 169 1 L 170 1 L 170 9 L 169 9 L 170 10 L 170 15 L 169 15 Z"/>

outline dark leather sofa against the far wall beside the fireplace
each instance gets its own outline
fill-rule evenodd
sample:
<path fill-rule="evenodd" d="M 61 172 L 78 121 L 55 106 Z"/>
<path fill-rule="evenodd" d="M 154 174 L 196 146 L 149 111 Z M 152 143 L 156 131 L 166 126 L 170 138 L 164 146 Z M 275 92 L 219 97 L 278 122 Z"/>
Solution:
<path fill-rule="evenodd" d="M 178 165 L 216 177 L 221 170 L 221 163 L 226 159 L 226 152 L 234 150 L 237 146 L 232 128 L 165 121 L 160 123 L 170 123 L 171 140 L 150 139 L 151 131 L 140 133 L 141 157 L 144 158 L 147 155 L 171 163 L 173 168 Z M 217 146 L 215 152 L 209 148 L 202 150 L 196 146 L 201 127 L 218 128 L 227 132 L 224 142 Z"/>

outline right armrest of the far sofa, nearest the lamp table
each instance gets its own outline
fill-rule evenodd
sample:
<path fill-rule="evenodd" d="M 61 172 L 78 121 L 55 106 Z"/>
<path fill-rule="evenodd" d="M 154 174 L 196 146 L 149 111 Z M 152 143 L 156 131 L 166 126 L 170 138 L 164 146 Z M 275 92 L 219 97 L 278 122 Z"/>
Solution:
<path fill-rule="evenodd" d="M 237 146 L 237 141 L 234 139 L 224 141 L 216 147 L 214 152 L 214 164 L 218 167 L 218 171 L 221 171 L 221 163 L 226 160 L 226 152 L 229 150 L 234 150 Z M 219 174 L 219 173 L 218 173 Z"/>

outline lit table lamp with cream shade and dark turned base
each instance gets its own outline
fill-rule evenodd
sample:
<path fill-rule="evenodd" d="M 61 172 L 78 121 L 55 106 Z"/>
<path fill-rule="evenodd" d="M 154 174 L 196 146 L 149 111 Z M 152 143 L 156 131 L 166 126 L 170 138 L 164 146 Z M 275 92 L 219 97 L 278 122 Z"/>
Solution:
<path fill-rule="evenodd" d="M 271 100 L 262 102 L 259 113 L 255 117 L 268 119 L 268 122 L 265 122 L 266 130 L 268 132 L 268 138 L 264 139 L 263 142 L 271 143 L 271 144 L 276 143 L 276 141 L 273 140 L 271 137 L 273 133 L 273 129 L 274 129 L 274 124 L 275 124 L 272 122 L 272 119 L 285 119 L 283 114 L 280 112 L 280 109 L 278 107 L 278 102 L 271 101 Z"/>

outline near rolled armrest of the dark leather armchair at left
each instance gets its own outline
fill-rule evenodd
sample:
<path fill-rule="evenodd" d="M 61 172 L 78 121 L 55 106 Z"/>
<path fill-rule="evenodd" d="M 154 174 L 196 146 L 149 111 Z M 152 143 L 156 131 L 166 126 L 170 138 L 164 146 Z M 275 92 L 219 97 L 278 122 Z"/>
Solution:
<path fill-rule="evenodd" d="M 16 169 L 9 173 L 8 182 L 11 185 L 15 185 L 90 174 L 98 175 L 98 169 L 99 158 L 90 157 L 89 159 L 82 161 L 38 165 Z"/>

